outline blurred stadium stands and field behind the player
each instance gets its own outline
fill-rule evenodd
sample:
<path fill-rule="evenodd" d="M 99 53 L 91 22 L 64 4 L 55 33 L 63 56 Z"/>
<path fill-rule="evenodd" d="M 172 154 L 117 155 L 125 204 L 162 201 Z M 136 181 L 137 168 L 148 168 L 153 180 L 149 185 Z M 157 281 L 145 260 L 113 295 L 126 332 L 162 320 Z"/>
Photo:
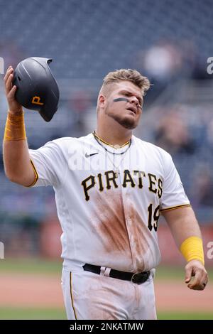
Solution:
<path fill-rule="evenodd" d="M 26 111 L 32 149 L 60 136 L 94 129 L 102 78 L 135 68 L 153 86 L 136 136 L 169 151 L 204 236 L 212 277 L 213 252 L 213 2 L 211 0 L 0 0 L 0 57 L 4 70 L 31 56 L 53 58 L 60 88 L 53 121 Z M 0 81 L 0 134 L 6 98 Z M 1 149 L 1 147 L 0 147 Z M 2 149 L 1 149 L 2 150 Z M 1 151 L 2 156 L 2 151 Z M 60 225 L 54 193 L 21 188 L 0 160 L 0 318 L 65 318 L 60 291 Z M 159 227 L 162 264 L 156 275 L 159 318 L 213 318 L 213 285 L 187 291 L 184 262 L 165 225 Z M 209 259 L 208 259 L 209 257 Z"/>

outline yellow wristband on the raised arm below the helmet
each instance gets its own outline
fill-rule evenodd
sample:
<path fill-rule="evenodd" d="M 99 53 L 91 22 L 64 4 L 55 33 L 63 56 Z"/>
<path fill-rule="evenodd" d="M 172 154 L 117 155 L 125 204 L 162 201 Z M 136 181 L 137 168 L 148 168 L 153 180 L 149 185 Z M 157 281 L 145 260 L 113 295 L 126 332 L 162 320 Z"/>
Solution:
<path fill-rule="evenodd" d="M 24 126 L 23 112 L 20 115 L 8 113 L 6 126 L 4 130 L 4 140 L 24 140 L 26 139 L 26 131 Z"/>

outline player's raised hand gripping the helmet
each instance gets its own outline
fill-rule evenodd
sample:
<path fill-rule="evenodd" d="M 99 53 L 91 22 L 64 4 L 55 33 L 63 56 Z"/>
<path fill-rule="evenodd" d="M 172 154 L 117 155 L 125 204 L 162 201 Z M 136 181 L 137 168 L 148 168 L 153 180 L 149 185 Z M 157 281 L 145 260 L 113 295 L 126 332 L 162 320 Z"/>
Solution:
<path fill-rule="evenodd" d="M 12 66 L 9 66 L 4 76 L 5 95 L 9 106 L 9 112 L 11 112 L 11 114 L 18 115 L 22 114 L 23 107 L 15 99 L 17 87 L 16 85 L 13 86 L 12 82 L 13 82 L 13 68 Z"/>

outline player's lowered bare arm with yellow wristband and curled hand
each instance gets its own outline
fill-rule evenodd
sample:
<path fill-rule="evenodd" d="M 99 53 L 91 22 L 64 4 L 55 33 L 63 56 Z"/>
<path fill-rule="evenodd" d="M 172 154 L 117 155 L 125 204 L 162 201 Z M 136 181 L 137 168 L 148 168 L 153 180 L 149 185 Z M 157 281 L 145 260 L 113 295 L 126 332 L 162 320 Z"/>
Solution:
<path fill-rule="evenodd" d="M 204 255 L 200 227 L 191 207 L 185 206 L 163 212 L 173 238 L 187 260 L 185 283 L 193 290 L 203 290 L 208 274 L 204 268 Z M 192 276 L 195 278 L 192 280 Z"/>

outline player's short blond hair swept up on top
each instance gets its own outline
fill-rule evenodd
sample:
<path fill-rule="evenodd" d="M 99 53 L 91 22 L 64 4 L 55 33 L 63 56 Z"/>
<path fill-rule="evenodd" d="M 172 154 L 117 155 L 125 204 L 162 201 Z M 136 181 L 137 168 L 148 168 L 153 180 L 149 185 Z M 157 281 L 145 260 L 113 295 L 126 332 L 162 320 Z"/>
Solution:
<path fill-rule="evenodd" d="M 106 77 L 104 77 L 101 90 L 105 90 L 104 88 L 107 88 L 106 86 L 109 84 L 114 84 L 123 80 L 133 82 L 134 85 L 141 89 L 142 95 L 145 95 L 151 86 L 148 77 L 143 77 L 143 75 L 141 75 L 141 73 L 137 70 L 131 70 L 131 68 L 126 70 L 121 68 L 121 70 L 114 70 L 113 72 L 109 72 Z"/>

